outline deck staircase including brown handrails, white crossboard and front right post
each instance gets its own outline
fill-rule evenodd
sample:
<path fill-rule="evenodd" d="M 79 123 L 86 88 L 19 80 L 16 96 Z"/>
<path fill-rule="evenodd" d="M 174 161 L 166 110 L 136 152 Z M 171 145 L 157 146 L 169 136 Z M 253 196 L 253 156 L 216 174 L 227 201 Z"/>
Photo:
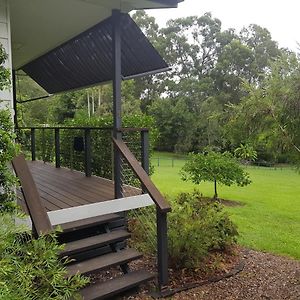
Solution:
<path fill-rule="evenodd" d="M 84 300 L 107 299 L 136 288 L 155 276 L 145 270 L 131 270 L 130 263 L 142 255 L 127 247 L 130 234 L 125 230 L 125 211 L 156 206 L 157 277 L 158 287 L 168 282 L 167 213 L 169 204 L 154 186 L 148 174 L 128 147 L 113 139 L 120 155 L 127 161 L 143 186 L 143 194 L 114 200 L 85 204 L 46 212 L 24 155 L 12 160 L 20 180 L 26 211 L 30 215 L 33 235 L 39 237 L 60 226 L 59 241 L 65 249 L 60 253 L 67 262 L 67 276 L 99 274 L 119 267 L 121 275 L 108 280 L 92 280 L 80 293 Z M 147 192 L 147 193 L 146 193 Z M 97 275 L 98 276 L 98 275 Z M 101 277 L 102 278 L 102 277 Z"/>

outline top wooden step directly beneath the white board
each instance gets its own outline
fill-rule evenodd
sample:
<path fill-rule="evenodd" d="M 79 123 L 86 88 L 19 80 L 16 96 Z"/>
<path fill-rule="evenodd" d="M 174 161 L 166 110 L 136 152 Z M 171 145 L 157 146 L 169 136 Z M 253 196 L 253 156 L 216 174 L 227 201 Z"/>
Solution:
<path fill-rule="evenodd" d="M 103 215 L 103 216 L 68 222 L 68 223 L 60 224 L 59 226 L 62 228 L 63 232 L 66 233 L 66 232 L 81 230 L 88 227 L 98 226 L 101 224 L 106 224 L 118 220 L 120 218 L 121 217 L 118 214 L 109 214 L 109 215 Z"/>

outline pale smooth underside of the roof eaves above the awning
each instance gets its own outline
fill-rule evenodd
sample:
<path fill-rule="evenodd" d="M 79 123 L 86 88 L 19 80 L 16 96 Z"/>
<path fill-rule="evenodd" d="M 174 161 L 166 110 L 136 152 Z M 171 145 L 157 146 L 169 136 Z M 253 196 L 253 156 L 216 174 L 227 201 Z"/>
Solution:
<path fill-rule="evenodd" d="M 8 0 L 13 69 L 111 16 L 112 9 L 176 7 L 181 0 Z"/>

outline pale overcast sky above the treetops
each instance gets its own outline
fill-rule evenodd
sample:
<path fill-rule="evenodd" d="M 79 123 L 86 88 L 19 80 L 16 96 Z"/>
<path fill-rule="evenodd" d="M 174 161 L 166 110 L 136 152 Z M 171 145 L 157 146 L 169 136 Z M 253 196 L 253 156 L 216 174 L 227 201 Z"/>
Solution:
<path fill-rule="evenodd" d="M 178 8 L 147 10 L 160 26 L 168 19 L 211 12 L 222 29 L 240 30 L 250 24 L 267 28 L 280 47 L 298 51 L 300 43 L 300 0 L 185 0 Z"/>

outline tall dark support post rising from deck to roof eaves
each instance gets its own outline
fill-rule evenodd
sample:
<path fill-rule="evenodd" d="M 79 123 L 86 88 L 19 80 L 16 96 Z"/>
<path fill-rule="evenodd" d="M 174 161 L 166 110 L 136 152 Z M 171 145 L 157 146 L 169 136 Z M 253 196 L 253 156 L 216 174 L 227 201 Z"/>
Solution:
<path fill-rule="evenodd" d="M 115 139 L 122 139 L 120 128 L 121 119 L 121 12 L 112 11 L 113 20 L 113 118 Z M 121 155 L 116 146 L 114 146 L 114 183 L 115 198 L 122 197 L 122 178 L 121 178 Z"/>

